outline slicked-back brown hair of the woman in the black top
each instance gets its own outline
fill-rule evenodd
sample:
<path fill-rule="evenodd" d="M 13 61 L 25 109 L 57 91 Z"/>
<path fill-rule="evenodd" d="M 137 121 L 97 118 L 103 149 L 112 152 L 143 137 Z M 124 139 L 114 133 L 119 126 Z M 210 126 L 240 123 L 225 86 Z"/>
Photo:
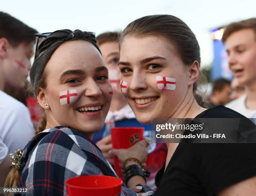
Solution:
<path fill-rule="evenodd" d="M 148 15 L 134 20 L 123 30 L 119 48 L 125 36 L 147 35 L 161 36 L 174 44 L 177 53 L 185 65 L 192 65 L 195 60 L 201 63 L 200 47 L 195 34 L 179 18 L 173 15 Z M 201 73 L 201 77 L 202 73 Z M 194 97 L 197 103 L 203 105 L 202 96 L 197 94 L 197 82 L 193 85 Z"/>

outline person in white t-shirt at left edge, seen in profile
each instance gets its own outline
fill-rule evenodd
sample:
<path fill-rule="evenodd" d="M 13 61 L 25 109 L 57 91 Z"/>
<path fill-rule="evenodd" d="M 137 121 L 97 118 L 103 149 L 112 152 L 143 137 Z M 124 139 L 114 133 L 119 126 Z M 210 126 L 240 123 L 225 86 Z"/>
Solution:
<path fill-rule="evenodd" d="M 0 135 L 8 153 L 24 148 L 35 133 L 28 108 L 3 91 L 24 87 L 35 33 L 20 20 L 0 12 Z"/>

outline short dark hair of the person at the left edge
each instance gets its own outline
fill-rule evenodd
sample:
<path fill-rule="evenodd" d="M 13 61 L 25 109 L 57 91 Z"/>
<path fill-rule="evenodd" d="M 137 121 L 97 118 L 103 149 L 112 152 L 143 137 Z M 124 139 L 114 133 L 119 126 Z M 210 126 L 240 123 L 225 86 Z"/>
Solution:
<path fill-rule="evenodd" d="M 0 38 L 6 38 L 13 47 L 20 43 L 31 43 L 37 31 L 13 16 L 0 12 Z"/>

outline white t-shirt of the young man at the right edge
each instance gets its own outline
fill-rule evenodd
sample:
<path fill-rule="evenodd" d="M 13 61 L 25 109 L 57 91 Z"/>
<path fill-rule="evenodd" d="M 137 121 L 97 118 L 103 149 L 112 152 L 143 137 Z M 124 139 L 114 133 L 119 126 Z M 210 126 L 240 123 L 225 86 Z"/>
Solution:
<path fill-rule="evenodd" d="M 241 113 L 243 116 L 247 118 L 253 118 L 253 115 L 256 113 L 256 110 L 246 108 L 246 97 L 247 95 L 244 94 L 241 97 L 231 101 L 225 106 L 238 113 Z"/>

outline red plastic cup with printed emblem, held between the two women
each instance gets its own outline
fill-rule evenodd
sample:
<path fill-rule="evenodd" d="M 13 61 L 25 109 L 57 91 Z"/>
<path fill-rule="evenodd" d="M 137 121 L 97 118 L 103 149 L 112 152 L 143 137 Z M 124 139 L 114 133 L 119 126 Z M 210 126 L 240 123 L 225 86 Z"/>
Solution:
<path fill-rule="evenodd" d="M 111 128 L 113 148 L 130 148 L 136 142 L 143 140 L 144 127 L 115 127 Z M 118 157 L 114 157 L 114 169 L 117 175 L 123 179 L 121 163 Z"/>

